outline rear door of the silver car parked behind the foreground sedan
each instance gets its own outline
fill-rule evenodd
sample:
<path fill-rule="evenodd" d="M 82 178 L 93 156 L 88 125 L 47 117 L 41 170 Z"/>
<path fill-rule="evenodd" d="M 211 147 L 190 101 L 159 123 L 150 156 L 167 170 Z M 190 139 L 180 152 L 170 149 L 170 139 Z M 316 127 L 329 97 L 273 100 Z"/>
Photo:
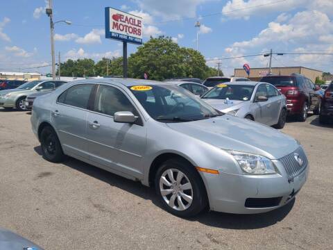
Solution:
<path fill-rule="evenodd" d="M 277 124 L 280 117 L 281 103 L 282 99 L 278 90 L 273 87 L 271 84 L 266 84 L 267 95 L 268 95 L 268 125 Z"/>

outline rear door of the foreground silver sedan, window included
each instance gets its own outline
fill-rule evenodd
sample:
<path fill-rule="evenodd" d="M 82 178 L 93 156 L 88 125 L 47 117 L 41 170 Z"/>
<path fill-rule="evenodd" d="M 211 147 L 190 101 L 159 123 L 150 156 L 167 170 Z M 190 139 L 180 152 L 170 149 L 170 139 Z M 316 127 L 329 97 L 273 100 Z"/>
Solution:
<path fill-rule="evenodd" d="M 58 132 L 65 154 L 89 158 L 87 133 L 87 108 L 92 98 L 93 84 L 78 84 L 62 92 L 51 110 L 51 123 Z"/>

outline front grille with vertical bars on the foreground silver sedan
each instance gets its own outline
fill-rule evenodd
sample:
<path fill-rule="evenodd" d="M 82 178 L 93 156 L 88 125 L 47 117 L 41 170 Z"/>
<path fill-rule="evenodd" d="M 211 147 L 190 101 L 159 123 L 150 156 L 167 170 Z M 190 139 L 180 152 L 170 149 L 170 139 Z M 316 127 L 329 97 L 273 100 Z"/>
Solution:
<path fill-rule="evenodd" d="M 302 159 L 302 165 L 300 165 L 296 160 L 297 156 L 300 159 Z M 295 152 L 289 154 L 288 156 L 284 156 L 279 160 L 280 163 L 282 163 L 284 169 L 286 169 L 289 180 L 293 179 L 295 176 L 298 176 L 298 174 L 302 173 L 303 170 L 307 167 L 308 163 L 307 156 L 305 156 L 305 153 L 301 147 L 296 149 Z"/>

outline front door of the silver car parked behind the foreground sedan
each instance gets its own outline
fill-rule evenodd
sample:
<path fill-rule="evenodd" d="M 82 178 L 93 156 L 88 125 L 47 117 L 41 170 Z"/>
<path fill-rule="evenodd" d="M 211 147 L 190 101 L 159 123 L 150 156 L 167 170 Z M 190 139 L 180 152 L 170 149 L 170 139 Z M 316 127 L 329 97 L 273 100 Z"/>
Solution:
<path fill-rule="evenodd" d="M 262 124 L 268 124 L 269 120 L 271 119 L 270 116 L 270 106 L 271 104 L 269 101 L 257 101 L 257 97 L 268 97 L 266 83 L 260 84 L 257 87 L 255 92 L 255 97 L 253 99 L 254 108 L 254 118 L 256 122 L 260 122 Z"/>

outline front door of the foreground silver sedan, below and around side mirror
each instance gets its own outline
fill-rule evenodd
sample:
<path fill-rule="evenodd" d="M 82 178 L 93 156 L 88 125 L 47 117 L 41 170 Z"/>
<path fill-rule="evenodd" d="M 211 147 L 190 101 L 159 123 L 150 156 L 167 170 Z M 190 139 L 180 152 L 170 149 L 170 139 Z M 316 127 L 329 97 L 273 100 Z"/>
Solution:
<path fill-rule="evenodd" d="M 130 111 L 139 117 L 128 94 L 112 85 L 99 85 L 94 108 L 87 116 L 89 158 L 123 176 L 142 178 L 146 128 L 139 117 L 135 124 L 114 122 L 114 113 Z"/>

